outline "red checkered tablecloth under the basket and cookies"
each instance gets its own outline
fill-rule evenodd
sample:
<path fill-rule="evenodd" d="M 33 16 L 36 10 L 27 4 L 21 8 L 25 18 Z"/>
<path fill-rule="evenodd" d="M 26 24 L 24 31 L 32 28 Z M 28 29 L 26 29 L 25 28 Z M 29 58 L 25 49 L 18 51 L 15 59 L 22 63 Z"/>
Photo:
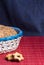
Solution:
<path fill-rule="evenodd" d="M 20 52 L 24 56 L 24 61 L 10 62 L 5 60 L 5 55 L 0 55 L 0 65 L 44 65 L 44 37 L 30 36 L 23 37 L 20 45 L 14 52 Z"/>

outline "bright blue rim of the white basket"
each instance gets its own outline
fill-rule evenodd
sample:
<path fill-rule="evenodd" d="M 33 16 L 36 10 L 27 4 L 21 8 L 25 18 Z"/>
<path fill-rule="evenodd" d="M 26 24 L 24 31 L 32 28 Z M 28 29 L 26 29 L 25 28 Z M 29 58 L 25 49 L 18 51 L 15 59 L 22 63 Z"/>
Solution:
<path fill-rule="evenodd" d="M 21 29 L 19 29 L 17 27 L 11 27 L 11 28 L 15 29 L 16 31 L 19 31 L 19 33 L 17 33 L 16 35 L 13 35 L 13 36 L 0 38 L 0 41 L 7 41 L 7 40 L 12 40 L 12 39 L 17 39 L 18 37 L 21 37 L 23 35 L 23 32 L 22 32 Z"/>

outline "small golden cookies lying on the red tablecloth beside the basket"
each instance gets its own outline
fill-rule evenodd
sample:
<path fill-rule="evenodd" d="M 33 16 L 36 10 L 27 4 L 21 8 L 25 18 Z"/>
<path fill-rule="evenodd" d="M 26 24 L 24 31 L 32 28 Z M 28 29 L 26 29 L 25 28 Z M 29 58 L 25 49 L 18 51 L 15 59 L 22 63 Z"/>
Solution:
<path fill-rule="evenodd" d="M 20 61 L 24 60 L 24 57 L 23 57 L 22 54 L 16 52 L 16 53 L 13 53 L 13 54 L 6 55 L 5 59 L 8 60 L 8 61 L 18 61 L 18 62 L 20 62 Z"/>

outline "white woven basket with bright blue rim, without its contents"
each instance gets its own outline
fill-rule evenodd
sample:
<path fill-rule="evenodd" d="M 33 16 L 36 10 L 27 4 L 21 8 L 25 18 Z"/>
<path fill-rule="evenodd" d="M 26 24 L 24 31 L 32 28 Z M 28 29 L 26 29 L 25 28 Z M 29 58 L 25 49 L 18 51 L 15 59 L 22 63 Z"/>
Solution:
<path fill-rule="evenodd" d="M 17 34 L 14 36 L 0 38 L 0 54 L 16 50 L 19 46 L 22 37 L 22 31 L 16 27 L 12 28 L 17 31 Z"/>

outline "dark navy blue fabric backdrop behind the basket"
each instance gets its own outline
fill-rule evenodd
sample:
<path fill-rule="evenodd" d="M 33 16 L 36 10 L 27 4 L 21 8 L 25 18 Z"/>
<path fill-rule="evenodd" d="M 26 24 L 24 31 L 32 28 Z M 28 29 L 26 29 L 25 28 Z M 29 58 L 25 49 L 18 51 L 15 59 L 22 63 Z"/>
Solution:
<path fill-rule="evenodd" d="M 44 0 L 1 0 L 0 24 L 19 27 L 24 35 L 44 35 Z"/>

